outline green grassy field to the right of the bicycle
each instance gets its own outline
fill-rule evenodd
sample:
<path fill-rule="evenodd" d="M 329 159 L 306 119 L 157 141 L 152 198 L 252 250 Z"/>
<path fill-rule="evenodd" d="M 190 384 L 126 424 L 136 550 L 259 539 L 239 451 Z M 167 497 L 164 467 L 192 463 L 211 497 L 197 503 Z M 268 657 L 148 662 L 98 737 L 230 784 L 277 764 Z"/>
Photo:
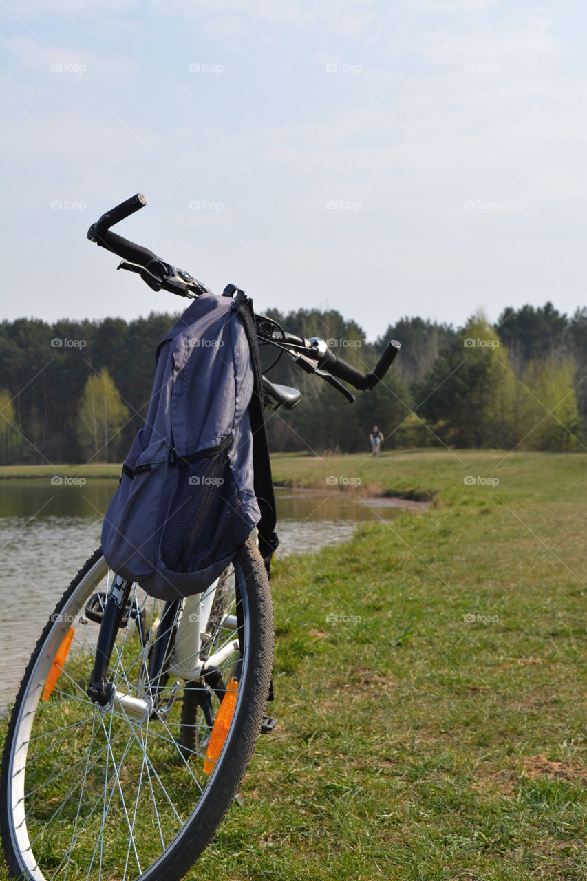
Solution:
<path fill-rule="evenodd" d="M 432 506 L 275 561 L 278 728 L 194 877 L 587 877 L 587 456 L 503 456 L 274 458 Z"/>

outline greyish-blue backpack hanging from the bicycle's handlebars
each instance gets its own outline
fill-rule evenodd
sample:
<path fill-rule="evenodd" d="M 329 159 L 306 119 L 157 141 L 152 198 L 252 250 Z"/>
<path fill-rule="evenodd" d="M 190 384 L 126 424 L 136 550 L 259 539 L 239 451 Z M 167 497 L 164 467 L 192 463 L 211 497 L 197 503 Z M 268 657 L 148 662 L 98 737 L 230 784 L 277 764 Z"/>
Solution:
<path fill-rule="evenodd" d="M 102 552 L 115 573 L 176 600 L 218 578 L 256 526 L 269 570 L 275 520 L 252 304 L 204 293 L 158 346 Z"/>

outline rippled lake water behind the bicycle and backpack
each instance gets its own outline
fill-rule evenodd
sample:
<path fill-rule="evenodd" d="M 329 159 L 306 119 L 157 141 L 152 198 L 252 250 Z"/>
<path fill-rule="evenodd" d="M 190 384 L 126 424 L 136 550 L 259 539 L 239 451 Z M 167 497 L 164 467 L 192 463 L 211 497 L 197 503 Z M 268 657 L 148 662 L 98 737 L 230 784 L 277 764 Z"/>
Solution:
<path fill-rule="evenodd" d="M 49 478 L 0 480 L 0 712 L 63 590 L 100 544 L 117 480 L 84 486 Z M 357 522 L 389 520 L 405 503 L 351 492 L 276 490 L 279 555 L 348 540 Z M 415 507 L 408 503 L 407 507 Z"/>

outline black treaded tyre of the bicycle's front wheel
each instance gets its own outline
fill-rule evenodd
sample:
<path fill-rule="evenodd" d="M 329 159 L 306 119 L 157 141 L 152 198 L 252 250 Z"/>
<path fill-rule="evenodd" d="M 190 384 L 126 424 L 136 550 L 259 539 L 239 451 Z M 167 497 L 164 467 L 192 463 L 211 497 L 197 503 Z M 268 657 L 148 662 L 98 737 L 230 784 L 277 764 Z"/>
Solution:
<path fill-rule="evenodd" d="M 14 794 L 12 791 L 13 787 L 16 787 L 16 784 L 14 782 L 15 747 L 18 750 L 21 749 L 21 746 L 19 746 L 19 744 L 21 743 L 22 737 L 21 735 L 19 735 L 19 731 L 21 731 L 24 724 L 23 719 L 25 718 L 25 714 L 23 713 L 23 709 L 25 707 L 33 706 L 33 704 L 31 703 L 31 701 L 33 700 L 33 691 L 34 689 L 40 688 L 39 683 L 36 683 L 35 685 L 35 670 L 38 669 L 39 665 L 42 666 L 42 663 L 48 663 L 47 661 L 45 661 L 43 651 L 51 643 L 52 638 L 53 640 L 56 640 L 56 638 L 58 639 L 58 636 L 56 637 L 56 626 L 61 623 L 59 620 L 59 616 L 61 615 L 62 618 L 64 617 L 63 610 L 69 608 L 69 606 L 71 606 L 71 603 L 74 602 L 76 591 L 78 589 L 81 589 L 80 586 L 86 584 L 86 581 L 89 577 L 91 577 L 91 574 L 93 574 L 93 572 L 99 571 L 100 566 L 105 566 L 105 561 L 103 561 L 101 551 L 100 549 L 98 549 L 98 551 L 94 552 L 93 556 L 87 560 L 85 566 L 83 566 L 79 570 L 77 576 L 73 579 L 73 581 L 71 581 L 70 587 L 66 589 L 63 593 L 61 600 L 56 605 L 56 611 L 49 618 L 48 624 L 43 629 L 43 632 L 41 633 L 41 638 L 39 639 L 36 647 L 33 650 L 33 655 L 31 656 L 31 659 L 27 665 L 25 676 L 23 677 L 22 683 L 19 688 L 19 694 L 12 709 L 11 721 L 4 744 L 3 766 L 2 774 L 0 777 L 0 821 L 2 825 L 2 840 L 4 844 L 5 860 L 7 862 L 9 870 L 11 870 L 11 873 L 15 877 L 26 877 L 31 879 L 34 878 L 34 881 L 41 881 L 41 878 L 43 877 L 48 879 L 49 877 L 51 877 L 51 872 L 55 869 L 56 860 L 59 858 L 59 853 L 52 857 L 53 862 L 50 863 L 49 867 L 51 871 L 48 873 L 48 875 L 45 875 L 45 870 L 43 869 L 43 866 L 41 865 L 41 868 L 39 868 L 39 870 L 35 870 L 34 866 L 32 866 L 31 864 L 31 860 L 34 860 L 35 865 L 37 864 L 37 861 L 40 862 L 41 857 L 45 855 L 45 849 L 47 848 L 47 845 L 44 846 L 41 857 L 39 857 L 38 855 L 30 855 L 29 857 L 26 857 L 26 855 L 23 853 L 23 848 L 21 848 L 19 845 L 19 839 L 15 827 L 15 811 L 17 810 L 18 806 L 15 807 L 15 805 L 13 804 Z M 249 760 L 255 749 L 256 739 L 260 732 L 265 703 L 269 692 L 273 658 L 273 611 L 269 580 L 267 578 L 263 559 L 261 558 L 261 555 L 256 548 L 256 544 L 251 538 L 249 538 L 248 541 L 241 547 L 240 551 L 236 554 L 234 558 L 234 581 L 235 584 L 238 584 L 238 590 L 241 596 L 241 614 L 246 616 L 246 629 L 248 633 L 247 654 L 246 659 L 241 662 L 241 683 L 239 685 L 239 697 L 237 699 L 233 721 L 228 732 L 226 743 L 219 756 L 217 766 L 214 768 L 212 774 L 210 774 L 201 795 L 197 799 L 196 806 L 186 818 L 185 823 L 182 824 L 182 828 L 179 833 L 175 835 L 173 840 L 169 840 L 167 842 L 167 846 L 164 843 L 163 835 L 161 835 L 161 844 L 163 845 L 163 848 L 160 855 L 154 860 L 154 862 L 151 862 L 148 867 L 143 869 L 143 867 L 140 866 L 140 862 L 137 857 L 137 865 L 140 869 L 139 874 L 137 875 L 137 865 L 134 867 L 133 870 L 130 864 L 131 861 L 129 860 L 128 856 L 128 853 L 130 853 L 129 841 L 126 863 L 124 865 L 124 872 L 120 865 L 108 863 L 105 867 L 103 867 L 100 862 L 100 872 L 98 871 L 97 866 L 93 870 L 93 875 L 95 875 L 95 877 L 98 877 L 99 875 L 101 877 L 108 877 L 108 871 L 110 872 L 111 877 L 140 877 L 142 879 L 145 879 L 145 881 L 160 881 L 160 879 L 161 881 L 163 881 L 163 879 L 166 879 L 166 881 L 167 879 L 168 881 L 176 881 L 176 879 L 183 877 L 183 875 L 189 870 L 193 863 L 196 862 L 197 857 L 202 853 L 204 848 L 212 839 L 213 834 L 219 827 L 222 818 L 224 817 L 226 811 L 228 810 L 228 807 L 232 803 L 234 796 L 237 793 L 242 777 L 244 776 L 247 766 L 249 765 Z M 85 587 L 83 588 L 83 590 L 85 590 Z M 132 627 L 132 624 L 130 626 Z M 146 647 L 142 646 L 142 640 L 141 648 L 146 651 Z M 85 655 L 81 655 L 81 657 L 85 658 Z M 74 692 L 74 696 L 77 696 L 77 692 Z M 76 703 L 76 701 L 74 701 L 74 703 Z M 39 704 L 40 701 L 37 698 L 37 704 L 35 705 L 36 708 L 33 711 L 34 716 L 32 725 L 34 723 L 34 718 L 37 714 L 39 714 Z M 95 707 L 95 705 L 93 705 L 93 707 Z M 95 724 L 97 711 L 93 710 L 93 707 L 89 707 L 88 709 L 93 711 L 93 724 Z M 112 715 L 114 716 L 114 713 Z M 126 721 L 129 722 L 128 718 Z M 76 729 L 76 731 L 78 731 L 79 729 L 76 728 L 76 726 L 77 722 L 74 723 L 73 727 Z M 146 728 L 149 729 L 149 722 L 146 722 Z M 122 722 L 121 729 L 123 729 Z M 110 730 L 112 730 L 112 722 L 110 722 Z M 52 733 L 53 732 L 49 732 L 49 735 Z M 128 731 L 125 731 L 125 735 L 127 733 Z M 41 735 L 41 737 L 47 736 L 48 735 Z M 136 736 L 132 735 L 131 732 L 130 741 L 132 737 Z M 152 737 L 159 737 L 159 735 L 153 735 Z M 137 737 L 136 739 L 138 740 Z M 143 737 L 141 735 L 140 739 L 141 743 L 143 744 L 143 750 L 146 753 L 148 736 L 145 736 L 145 740 L 143 740 Z M 46 741 L 43 741 L 43 745 L 45 743 Z M 86 773 L 89 767 L 89 755 L 92 744 L 93 739 L 90 741 L 88 747 L 88 759 L 86 760 L 85 765 Z M 158 742 L 155 742 L 155 744 L 156 745 L 155 747 L 153 747 L 153 749 L 156 749 L 158 747 L 160 748 L 160 744 L 158 744 Z M 172 747 L 170 751 L 173 759 L 177 761 L 177 756 L 174 751 L 175 747 L 177 747 L 178 752 L 181 751 L 182 747 L 179 743 L 179 738 L 177 742 L 174 743 L 174 747 Z M 29 751 L 30 749 L 31 747 L 29 741 L 26 744 L 26 751 Z M 121 759 L 120 767 L 117 767 L 114 749 L 115 744 L 113 739 L 112 744 L 110 744 L 109 746 L 109 750 L 112 752 L 113 755 L 113 767 L 115 767 L 116 780 L 119 781 L 119 778 L 122 776 L 120 771 L 123 768 L 123 759 L 127 755 L 127 752 L 123 754 L 123 759 Z M 168 747 L 167 750 L 169 750 Z M 42 756 L 43 753 L 41 752 L 41 758 Z M 41 760 L 35 759 L 35 773 L 37 766 L 41 765 Z M 93 769 L 93 766 L 90 766 L 89 769 L 91 771 Z M 22 782 L 22 786 L 24 788 L 27 776 L 26 765 L 23 766 L 23 770 L 24 779 Z M 182 771 L 183 770 L 184 769 L 182 768 Z M 16 774 L 18 773 L 19 772 L 16 772 Z M 192 776 L 194 776 L 193 772 Z M 82 779 L 84 780 L 84 784 L 79 795 L 80 804 L 85 787 L 85 778 Z M 104 784 L 104 790 L 106 793 L 108 786 L 108 771 L 105 779 L 106 782 Z M 53 780 L 53 778 L 49 778 L 49 780 L 51 781 Z M 151 783 L 151 777 L 149 777 L 149 781 Z M 140 785 L 138 786 L 138 789 L 140 792 Z M 113 783 L 113 795 L 114 791 L 115 784 Z M 154 801 L 155 796 L 153 795 L 152 786 L 151 792 Z M 120 794 L 122 803 L 124 805 L 122 786 L 120 789 Z M 110 801 L 108 802 L 108 807 L 112 802 L 113 795 L 109 796 Z M 76 799 L 77 797 L 78 796 L 76 795 Z M 75 801 L 75 799 L 73 801 Z M 137 803 L 138 802 L 139 794 L 137 794 Z M 63 804 L 65 804 L 69 810 L 67 799 Z M 106 804 L 106 794 L 104 795 L 104 804 Z M 60 808 L 59 810 L 62 810 L 62 808 Z M 22 811 L 25 811 L 25 808 L 23 808 Z M 65 811 L 64 808 L 63 811 Z M 55 812 L 57 812 L 57 809 Z M 136 812 L 137 809 L 135 809 L 135 814 Z M 80 811 L 78 807 L 78 815 L 79 813 Z M 156 805 L 155 813 L 157 813 Z M 19 816 L 20 815 L 18 814 L 17 818 Z M 66 812 L 63 813 L 63 816 L 66 816 Z M 106 837 L 105 826 L 107 818 L 108 811 L 106 811 L 106 814 L 102 818 L 102 842 L 100 845 L 100 861 L 102 860 L 104 839 Z M 76 832 L 77 823 L 78 817 L 76 818 L 76 826 L 74 826 L 73 828 L 73 834 L 75 834 Z M 25 828 L 27 828 L 27 826 Z M 45 827 L 43 827 L 43 829 L 44 828 Z M 129 825 L 129 830 L 130 838 L 133 839 L 132 833 L 134 832 L 134 818 L 133 826 L 130 827 Z M 42 831 L 43 830 L 41 830 L 41 832 Z M 122 833 L 123 832 L 124 830 L 122 830 Z M 53 831 L 51 831 L 51 834 L 53 834 Z M 73 834 L 71 838 L 72 847 L 74 840 Z M 28 838 L 26 840 L 28 840 Z M 124 841 L 124 844 L 126 845 L 126 841 Z M 137 851 L 134 840 L 132 841 L 132 846 L 136 854 Z M 115 848 L 113 847 L 112 849 Z M 63 872 L 65 871 L 66 867 L 68 871 L 67 877 L 68 879 L 71 879 L 71 881 L 75 881 L 75 878 L 77 878 L 78 875 L 79 877 L 86 877 L 87 865 L 85 863 L 80 866 L 73 865 L 72 860 L 69 859 L 66 863 L 66 866 L 63 866 Z M 90 865 L 90 870 L 92 869 L 93 863 L 91 863 Z M 90 873 L 91 878 L 93 877 L 93 875 L 92 873 Z M 59 876 L 54 873 L 53 877 Z"/>

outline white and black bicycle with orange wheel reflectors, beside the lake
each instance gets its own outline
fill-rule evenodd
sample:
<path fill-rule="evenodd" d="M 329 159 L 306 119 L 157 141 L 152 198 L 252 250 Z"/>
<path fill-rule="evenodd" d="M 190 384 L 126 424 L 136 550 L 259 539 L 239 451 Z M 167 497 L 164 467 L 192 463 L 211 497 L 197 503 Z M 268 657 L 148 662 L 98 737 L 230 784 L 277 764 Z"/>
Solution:
<path fill-rule="evenodd" d="M 154 290 L 208 292 L 110 231 L 144 205 L 133 196 L 88 238 Z M 234 285 L 225 293 L 241 295 Z M 285 352 L 349 401 L 338 380 L 373 388 L 399 348 L 390 343 L 366 375 L 318 337 L 261 315 L 256 331 L 275 354 L 271 366 Z M 300 402 L 299 389 L 266 376 L 263 384 L 271 411 Z M 56 604 L 12 709 L 0 780 L 11 872 L 34 881 L 182 877 L 237 796 L 259 733 L 274 724 L 264 715 L 272 660 L 271 591 L 255 534 L 202 594 L 169 603 L 111 572 L 95 551 Z"/>

